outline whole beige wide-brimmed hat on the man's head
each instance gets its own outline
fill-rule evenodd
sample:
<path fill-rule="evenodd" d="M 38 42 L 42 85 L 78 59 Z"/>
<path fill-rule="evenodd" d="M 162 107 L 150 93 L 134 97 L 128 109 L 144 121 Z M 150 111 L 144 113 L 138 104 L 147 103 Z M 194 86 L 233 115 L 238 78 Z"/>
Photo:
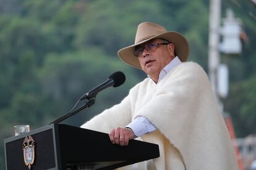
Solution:
<path fill-rule="evenodd" d="M 176 31 L 167 31 L 163 26 L 151 22 L 140 23 L 135 36 L 135 43 L 120 49 L 117 54 L 120 59 L 132 67 L 142 69 L 138 58 L 134 55 L 134 47 L 154 38 L 163 38 L 174 44 L 174 53 L 181 62 L 186 62 L 189 57 L 189 43 L 187 39 Z"/>

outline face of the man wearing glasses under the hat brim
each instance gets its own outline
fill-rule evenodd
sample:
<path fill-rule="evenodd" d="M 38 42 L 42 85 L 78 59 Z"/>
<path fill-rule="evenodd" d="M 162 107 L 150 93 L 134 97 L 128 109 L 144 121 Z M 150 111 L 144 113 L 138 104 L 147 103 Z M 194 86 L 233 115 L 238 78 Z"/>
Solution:
<path fill-rule="evenodd" d="M 174 44 L 163 44 L 164 42 L 166 41 L 163 39 L 153 39 L 139 46 L 142 47 L 140 48 L 140 55 L 138 56 L 140 66 L 151 78 L 157 78 L 154 79 L 154 81 L 158 80 L 160 71 L 174 58 Z M 147 47 L 150 46 L 153 46 L 153 48 L 148 49 Z M 143 49 L 143 47 L 145 48 Z"/>

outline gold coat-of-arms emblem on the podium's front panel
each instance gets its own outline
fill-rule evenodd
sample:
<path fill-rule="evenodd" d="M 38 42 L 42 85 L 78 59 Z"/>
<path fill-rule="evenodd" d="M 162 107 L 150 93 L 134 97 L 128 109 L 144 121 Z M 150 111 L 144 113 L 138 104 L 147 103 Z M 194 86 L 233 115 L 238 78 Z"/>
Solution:
<path fill-rule="evenodd" d="M 31 136 L 25 137 L 22 144 L 22 150 L 25 165 L 31 169 L 35 160 L 35 140 L 33 140 Z"/>

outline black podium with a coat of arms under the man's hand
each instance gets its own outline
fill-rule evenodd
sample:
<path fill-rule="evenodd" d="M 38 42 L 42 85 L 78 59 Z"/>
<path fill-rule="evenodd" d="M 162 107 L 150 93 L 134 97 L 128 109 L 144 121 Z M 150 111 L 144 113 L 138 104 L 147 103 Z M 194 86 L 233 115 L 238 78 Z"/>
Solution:
<path fill-rule="evenodd" d="M 158 145 L 130 140 L 127 147 L 111 144 L 108 134 L 66 124 L 50 124 L 4 140 L 6 169 L 27 170 L 22 144 L 35 140 L 32 170 L 114 169 L 159 157 Z"/>

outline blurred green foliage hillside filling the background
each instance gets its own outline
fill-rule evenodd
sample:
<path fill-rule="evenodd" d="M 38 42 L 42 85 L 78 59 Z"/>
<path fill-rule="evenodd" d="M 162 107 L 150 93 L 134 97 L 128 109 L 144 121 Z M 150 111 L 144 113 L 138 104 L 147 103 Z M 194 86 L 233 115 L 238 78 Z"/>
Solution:
<path fill-rule="evenodd" d="M 221 55 L 230 73 L 223 103 L 237 137 L 245 137 L 256 131 L 256 12 L 250 1 L 223 0 L 223 16 L 228 7 L 243 21 L 249 42 L 241 55 Z M 5 167 L 3 139 L 13 136 L 14 125 L 45 126 L 111 73 L 123 71 L 123 86 L 101 92 L 92 108 L 64 121 L 80 126 L 146 77 L 116 54 L 133 44 L 140 22 L 184 34 L 189 60 L 207 71 L 208 13 L 206 0 L 0 0 L 0 169 Z"/>

